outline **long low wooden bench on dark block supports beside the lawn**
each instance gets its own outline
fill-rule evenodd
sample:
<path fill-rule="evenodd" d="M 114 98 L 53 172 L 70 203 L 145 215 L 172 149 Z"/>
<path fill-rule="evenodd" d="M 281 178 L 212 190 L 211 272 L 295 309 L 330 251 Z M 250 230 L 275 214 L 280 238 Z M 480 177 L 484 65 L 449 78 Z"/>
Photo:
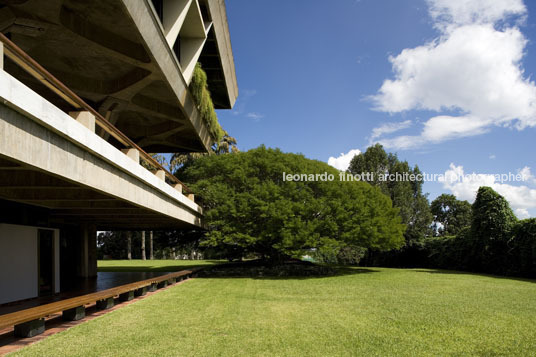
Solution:
<path fill-rule="evenodd" d="M 113 298 L 116 296 L 119 296 L 121 301 L 130 300 L 134 295 L 144 295 L 148 288 L 151 291 L 154 291 L 157 286 L 164 287 L 167 283 L 174 283 L 177 280 L 188 279 L 200 269 L 201 268 L 182 270 L 146 280 L 136 281 L 130 284 L 116 286 L 111 289 L 0 315 L 0 330 L 14 326 L 15 335 L 17 337 L 32 337 L 44 332 L 44 319 L 47 316 L 62 312 L 63 317 L 68 320 L 79 320 L 85 316 L 84 305 L 108 302 L 107 304 L 101 304 L 101 308 L 109 308 L 113 306 Z M 112 301 L 111 306 L 109 303 L 110 299 Z"/>

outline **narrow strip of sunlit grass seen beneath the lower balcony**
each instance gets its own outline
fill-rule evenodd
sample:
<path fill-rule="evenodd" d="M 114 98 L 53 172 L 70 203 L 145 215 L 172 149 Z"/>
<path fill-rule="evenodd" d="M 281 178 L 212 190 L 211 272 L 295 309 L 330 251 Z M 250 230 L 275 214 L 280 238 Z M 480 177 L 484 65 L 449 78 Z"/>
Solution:
<path fill-rule="evenodd" d="M 223 260 L 99 260 L 97 270 L 102 272 L 154 271 L 175 272 L 200 266 L 223 263 Z"/>

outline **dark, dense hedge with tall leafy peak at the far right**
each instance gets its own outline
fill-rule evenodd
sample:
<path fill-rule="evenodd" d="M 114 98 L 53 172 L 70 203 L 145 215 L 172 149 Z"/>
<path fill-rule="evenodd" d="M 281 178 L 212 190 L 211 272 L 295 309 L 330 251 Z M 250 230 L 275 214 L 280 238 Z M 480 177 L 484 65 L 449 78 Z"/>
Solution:
<path fill-rule="evenodd" d="M 480 187 L 470 224 L 426 239 L 413 265 L 536 277 L 536 219 L 518 220 L 506 199 Z"/>

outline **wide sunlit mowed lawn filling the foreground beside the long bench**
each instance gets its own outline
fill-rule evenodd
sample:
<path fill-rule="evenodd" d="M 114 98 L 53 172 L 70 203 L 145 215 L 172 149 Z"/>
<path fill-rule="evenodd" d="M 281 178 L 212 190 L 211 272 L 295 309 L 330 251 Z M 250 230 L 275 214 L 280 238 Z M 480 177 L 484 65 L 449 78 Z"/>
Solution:
<path fill-rule="evenodd" d="M 20 356 L 534 356 L 536 284 L 435 270 L 198 278 Z"/>

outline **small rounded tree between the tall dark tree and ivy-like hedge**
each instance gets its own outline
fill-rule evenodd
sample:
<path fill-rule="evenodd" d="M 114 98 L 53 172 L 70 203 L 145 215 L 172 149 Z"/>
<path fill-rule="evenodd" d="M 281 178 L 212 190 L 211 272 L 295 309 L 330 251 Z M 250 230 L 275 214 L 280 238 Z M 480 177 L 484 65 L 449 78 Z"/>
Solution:
<path fill-rule="evenodd" d="M 471 204 L 454 195 L 442 194 L 430 206 L 434 215 L 436 233 L 439 236 L 455 236 L 471 225 Z"/>

